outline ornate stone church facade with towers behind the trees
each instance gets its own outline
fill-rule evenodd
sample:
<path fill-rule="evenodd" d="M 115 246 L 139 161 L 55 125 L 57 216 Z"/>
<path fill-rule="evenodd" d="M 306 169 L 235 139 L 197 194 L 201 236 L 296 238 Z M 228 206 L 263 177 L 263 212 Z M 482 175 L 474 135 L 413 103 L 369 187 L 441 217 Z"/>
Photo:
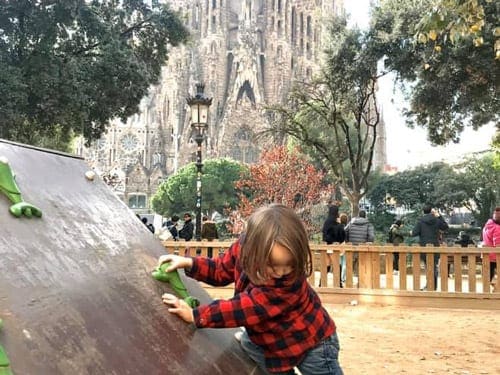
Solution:
<path fill-rule="evenodd" d="M 354 1 L 354 0 L 351 0 Z M 124 202 L 149 213 L 150 197 L 178 168 L 194 161 L 186 102 L 197 83 L 213 98 L 203 145 L 206 158 L 258 160 L 255 135 L 269 124 L 266 106 L 282 103 L 295 80 L 308 80 L 323 58 L 326 21 L 343 0 L 170 0 L 191 32 L 170 50 L 162 78 L 138 114 L 111 121 L 107 133 L 77 153 Z M 386 163 L 379 125 L 375 166 Z"/>

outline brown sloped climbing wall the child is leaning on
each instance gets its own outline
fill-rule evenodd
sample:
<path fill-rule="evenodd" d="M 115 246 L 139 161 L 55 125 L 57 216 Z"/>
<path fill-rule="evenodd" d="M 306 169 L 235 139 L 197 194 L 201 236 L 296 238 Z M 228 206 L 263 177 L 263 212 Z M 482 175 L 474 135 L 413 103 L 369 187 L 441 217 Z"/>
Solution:
<path fill-rule="evenodd" d="M 260 374 L 236 329 L 198 330 L 168 312 L 161 296 L 174 286 L 151 277 L 165 249 L 83 159 L 3 140 L 0 155 L 32 215 L 43 212 L 9 213 L 23 199 L 0 182 L 0 375 Z"/>

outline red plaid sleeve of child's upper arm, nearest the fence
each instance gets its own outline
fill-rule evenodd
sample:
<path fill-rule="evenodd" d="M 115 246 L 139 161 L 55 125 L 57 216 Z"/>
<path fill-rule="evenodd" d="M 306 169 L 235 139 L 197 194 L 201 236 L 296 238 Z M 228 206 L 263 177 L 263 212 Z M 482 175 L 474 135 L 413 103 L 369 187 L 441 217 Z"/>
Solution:
<path fill-rule="evenodd" d="M 236 259 L 239 243 L 233 243 L 222 257 L 192 257 L 193 266 L 186 275 L 213 286 L 225 286 L 235 281 Z"/>

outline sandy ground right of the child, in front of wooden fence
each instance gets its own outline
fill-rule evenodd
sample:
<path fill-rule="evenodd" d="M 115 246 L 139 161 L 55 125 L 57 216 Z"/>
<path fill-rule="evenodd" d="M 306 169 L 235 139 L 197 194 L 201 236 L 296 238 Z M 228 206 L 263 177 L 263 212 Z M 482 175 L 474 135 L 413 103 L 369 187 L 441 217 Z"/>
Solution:
<path fill-rule="evenodd" d="M 326 305 L 357 374 L 500 374 L 500 311 Z"/>

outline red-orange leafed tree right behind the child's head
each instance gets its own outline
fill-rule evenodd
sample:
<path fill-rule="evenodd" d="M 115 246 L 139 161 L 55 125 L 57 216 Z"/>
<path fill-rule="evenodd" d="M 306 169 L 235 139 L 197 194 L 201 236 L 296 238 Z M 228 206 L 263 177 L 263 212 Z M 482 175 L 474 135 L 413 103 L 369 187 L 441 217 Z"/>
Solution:
<path fill-rule="evenodd" d="M 311 207 L 331 191 L 324 177 L 297 147 L 279 146 L 263 151 L 257 163 L 250 165 L 236 183 L 240 190 L 239 211 L 248 216 L 257 207 L 280 203 L 294 208 L 308 229 L 317 230 L 319 223 L 311 219 Z"/>

